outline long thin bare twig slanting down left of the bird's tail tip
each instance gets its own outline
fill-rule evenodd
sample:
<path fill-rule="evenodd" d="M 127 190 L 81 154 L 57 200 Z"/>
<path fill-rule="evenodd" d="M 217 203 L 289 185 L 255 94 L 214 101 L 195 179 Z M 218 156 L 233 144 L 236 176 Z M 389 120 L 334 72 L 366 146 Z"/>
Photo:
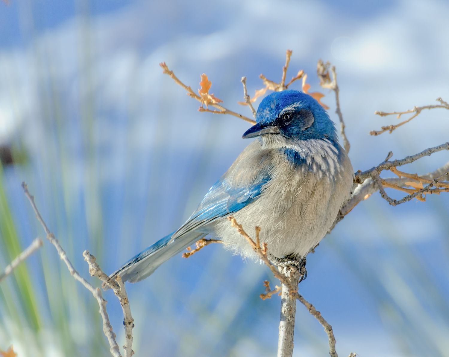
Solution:
<path fill-rule="evenodd" d="M 50 232 L 50 230 L 47 227 L 47 224 L 44 222 L 44 219 L 40 215 L 39 210 L 37 209 L 36 204 L 34 202 L 34 197 L 31 196 L 30 192 L 28 192 L 28 187 L 26 186 L 26 183 L 24 183 L 24 182 L 22 183 L 22 188 L 23 188 L 23 191 L 25 192 L 25 196 L 30 201 L 31 207 L 33 208 L 34 213 L 36 214 L 37 220 L 40 222 L 40 224 L 44 228 L 47 239 L 56 248 L 57 253 L 59 254 L 59 257 L 66 264 L 66 266 L 70 272 L 70 275 L 72 275 L 75 278 L 75 280 L 78 280 L 81 284 L 83 284 L 84 287 L 92 293 L 92 295 L 95 297 L 95 299 L 97 299 L 98 305 L 100 306 L 101 318 L 103 320 L 103 332 L 104 332 L 106 338 L 108 339 L 109 346 L 110 346 L 110 353 L 114 357 L 122 357 L 122 355 L 120 354 L 119 345 L 115 341 L 115 334 L 114 334 L 114 331 L 112 330 L 112 326 L 109 321 L 108 313 L 106 312 L 106 300 L 103 299 L 100 289 L 93 287 L 90 283 L 88 283 L 88 281 L 86 279 L 84 279 L 81 275 L 79 275 L 79 273 L 75 270 L 75 268 L 73 267 L 69 258 L 67 257 L 66 252 L 64 251 L 64 249 L 62 249 L 61 245 L 59 244 L 58 240 L 55 238 L 53 233 Z"/>

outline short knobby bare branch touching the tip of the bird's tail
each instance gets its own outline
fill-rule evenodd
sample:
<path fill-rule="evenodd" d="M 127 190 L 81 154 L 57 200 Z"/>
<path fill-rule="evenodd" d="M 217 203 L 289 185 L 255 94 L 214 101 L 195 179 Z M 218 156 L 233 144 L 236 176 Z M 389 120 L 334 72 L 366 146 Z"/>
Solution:
<path fill-rule="evenodd" d="M 131 315 L 128 294 L 126 293 L 122 277 L 117 275 L 114 280 L 110 279 L 110 277 L 101 270 L 97 263 L 97 258 L 90 254 L 88 250 L 83 252 L 83 257 L 89 265 L 89 274 L 91 276 L 96 276 L 104 285 L 110 287 L 120 301 L 123 311 L 123 325 L 125 327 L 125 345 L 123 346 L 123 349 L 125 350 L 125 357 L 131 357 L 134 354 L 134 351 L 132 350 L 132 328 L 134 327 L 134 319 Z"/>

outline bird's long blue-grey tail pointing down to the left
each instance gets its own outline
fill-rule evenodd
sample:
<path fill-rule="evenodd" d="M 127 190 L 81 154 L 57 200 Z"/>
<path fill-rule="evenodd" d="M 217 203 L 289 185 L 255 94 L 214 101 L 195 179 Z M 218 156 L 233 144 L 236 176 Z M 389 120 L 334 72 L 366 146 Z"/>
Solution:
<path fill-rule="evenodd" d="M 137 254 L 114 274 L 110 275 L 110 278 L 113 279 L 115 276 L 120 275 L 123 281 L 129 281 L 130 283 L 141 281 L 153 274 L 154 270 L 163 262 L 206 235 L 205 233 L 191 231 L 172 240 L 173 233 L 175 232 L 159 239 L 156 243 Z"/>

